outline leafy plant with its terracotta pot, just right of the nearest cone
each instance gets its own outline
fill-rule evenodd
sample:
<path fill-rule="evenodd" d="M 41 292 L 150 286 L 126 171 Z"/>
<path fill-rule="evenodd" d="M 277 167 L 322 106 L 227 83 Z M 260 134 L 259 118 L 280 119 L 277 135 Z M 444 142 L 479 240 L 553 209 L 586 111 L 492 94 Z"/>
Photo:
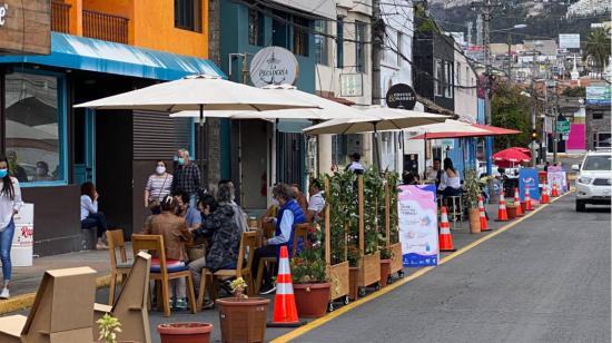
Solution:
<path fill-rule="evenodd" d="M 295 304 L 303 317 L 317 318 L 327 312 L 332 284 L 322 253 L 320 248 L 306 248 L 290 262 Z"/>

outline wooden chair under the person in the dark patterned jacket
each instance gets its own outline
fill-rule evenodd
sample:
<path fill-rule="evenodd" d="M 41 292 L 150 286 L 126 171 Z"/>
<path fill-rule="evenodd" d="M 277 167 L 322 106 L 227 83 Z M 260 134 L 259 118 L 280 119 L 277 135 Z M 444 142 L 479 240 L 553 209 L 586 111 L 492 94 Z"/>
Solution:
<path fill-rule="evenodd" d="M 238 259 L 235 270 L 219 270 L 215 273 L 210 273 L 208 270 L 203 268 L 201 282 L 198 294 L 198 311 L 201 311 L 206 293 L 206 280 L 210 278 L 211 292 L 210 300 L 215 300 L 217 295 L 217 286 L 219 280 L 226 280 L 229 277 L 243 277 L 247 282 L 247 294 L 254 294 L 253 274 L 250 267 L 253 265 L 253 256 L 255 248 L 257 247 L 257 232 L 243 233 L 240 237 L 240 247 L 238 249 Z"/>

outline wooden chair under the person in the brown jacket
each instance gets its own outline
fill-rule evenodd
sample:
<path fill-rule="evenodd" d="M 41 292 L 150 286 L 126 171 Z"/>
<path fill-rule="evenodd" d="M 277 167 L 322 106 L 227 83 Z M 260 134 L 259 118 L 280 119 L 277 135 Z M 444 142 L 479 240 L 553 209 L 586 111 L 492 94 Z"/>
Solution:
<path fill-rule="evenodd" d="M 140 251 L 156 252 L 159 258 L 159 272 L 149 272 L 150 280 L 156 281 L 157 288 L 161 288 L 161 294 L 158 292 L 157 307 L 164 308 L 164 315 L 170 316 L 170 280 L 187 278 L 187 297 L 191 313 L 196 313 L 196 295 L 194 293 L 194 280 L 189 267 L 185 265 L 177 271 L 168 271 L 166 265 L 166 251 L 164 249 L 164 237 L 161 235 L 132 235 L 131 246 L 136 256 Z M 160 306 L 161 305 L 161 306 Z"/>

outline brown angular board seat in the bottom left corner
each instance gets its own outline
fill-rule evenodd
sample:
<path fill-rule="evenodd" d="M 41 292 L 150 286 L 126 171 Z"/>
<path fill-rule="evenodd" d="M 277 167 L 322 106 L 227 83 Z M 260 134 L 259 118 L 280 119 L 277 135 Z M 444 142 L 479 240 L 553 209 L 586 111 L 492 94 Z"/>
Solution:
<path fill-rule="evenodd" d="M 30 314 L 0 317 L 0 342 L 92 342 L 95 298 L 92 268 L 47 271 Z"/>

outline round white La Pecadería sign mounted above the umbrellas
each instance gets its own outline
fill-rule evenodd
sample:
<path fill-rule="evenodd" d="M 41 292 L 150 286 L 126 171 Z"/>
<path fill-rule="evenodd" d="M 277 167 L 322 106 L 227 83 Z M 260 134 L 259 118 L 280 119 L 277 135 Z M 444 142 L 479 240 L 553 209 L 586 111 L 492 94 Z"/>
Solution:
<path fill-rule="evenodd" d="M 297 59 L 285 48 L 264 48 L 250 60 L 250 81 L 255 87 L 294 85 L 298 74 Z"/>

